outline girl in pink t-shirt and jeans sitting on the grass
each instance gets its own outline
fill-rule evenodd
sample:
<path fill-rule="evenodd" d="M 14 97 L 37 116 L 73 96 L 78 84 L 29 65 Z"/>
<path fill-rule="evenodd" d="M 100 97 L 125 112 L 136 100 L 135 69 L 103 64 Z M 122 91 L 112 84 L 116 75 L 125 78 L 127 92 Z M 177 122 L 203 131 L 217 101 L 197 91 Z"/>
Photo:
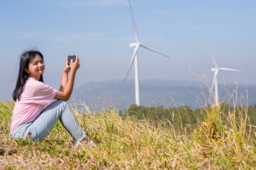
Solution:
<path fill-rule="evenodd" d="M 15 106 L 11 116 L 10 136 L 44 140 L 57 120 L 73 137 L 73 144 L 87 144 L 86 132 L 78 124 L 65 102 L 71 96 L 75 73 L 79 69 L 79 58 L 66 65 L 59 90 L 46 85 L 42 79 L 44 57 L 38 50 L 27 50 L 20 56 L 18 79 L 13 91 Z M 70 74 L 69 74 L 70 73 Z M 69 77 L 68 77 L 69 74 Z M 52 102 L 53 99 L 57 99 Z"/>

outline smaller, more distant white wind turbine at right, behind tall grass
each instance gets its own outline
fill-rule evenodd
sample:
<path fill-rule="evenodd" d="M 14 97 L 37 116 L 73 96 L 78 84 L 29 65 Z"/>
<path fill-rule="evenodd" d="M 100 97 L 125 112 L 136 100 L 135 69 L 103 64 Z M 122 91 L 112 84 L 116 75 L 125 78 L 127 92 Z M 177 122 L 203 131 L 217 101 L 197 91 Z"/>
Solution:
<path fill-rule="evenodd" d="M 211 54 L 212 55 L 212 54 Z M 214 88 L 214 97 L 215 97 L 215 105 L 218 105 L 219 103 L 219 96 L 218 96 L 218 79 L 217 75 L 219 71 L 239 71 L 236 69 L 229 69 L 225 67 L 218 67 L 216 61 L 214 60 L 214 56 L 212 55 L 212 60 L 214 62 L 215 68 L 212 68 L 212 72 L 214 72 L 214 79 L 212 81 L 212 89 Z"/>

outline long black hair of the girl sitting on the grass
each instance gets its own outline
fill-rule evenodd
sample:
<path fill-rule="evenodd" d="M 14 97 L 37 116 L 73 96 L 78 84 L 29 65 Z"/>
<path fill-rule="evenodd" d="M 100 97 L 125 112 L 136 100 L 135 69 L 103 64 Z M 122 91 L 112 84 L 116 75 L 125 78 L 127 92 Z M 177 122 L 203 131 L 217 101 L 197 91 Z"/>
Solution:
<path fill-rule="evenodd" d="M 38 55 L 44 59 L 44 56 L 42 56 L 42 53 L 38 50 L 26 50 L 20 55 L 20 69 L 19 69 L 19 75 L 18 79 L 16 81 L 15 89 L 12 93 L 13 100 L 16 101 L 17 99 L 20 100 L 20 95 L 24 91 L 24 85 L 26 84 L 26 81 L 28 79 L 28 73 L 26 73 L 25 69 L 28 68 L 28 65 L 30 62 L 34 59 L 34 57 Z M 44 82 L 42 79 L 42 75 L 39 79 L 39 81 Z"/>

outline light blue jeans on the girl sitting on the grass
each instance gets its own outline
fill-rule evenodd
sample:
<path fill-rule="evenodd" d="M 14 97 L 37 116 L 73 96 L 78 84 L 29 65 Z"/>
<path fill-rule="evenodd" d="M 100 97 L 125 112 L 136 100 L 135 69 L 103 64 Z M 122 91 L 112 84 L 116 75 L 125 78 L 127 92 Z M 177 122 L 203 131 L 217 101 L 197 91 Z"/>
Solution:
<path fill-rule="evenodd" d="M 13 138 L 31 138 L 32 140 L 44 140 L 49 135 L 57 120 L 60 120 L 64 128 L 78 142 L 86 136 L 86 132 L 78 124 L 71 112 L 69 105 L 63 100 L 57 100 L 42 110 L 41 114 L 34 120 L 22 124 L 10 132 Z"/>

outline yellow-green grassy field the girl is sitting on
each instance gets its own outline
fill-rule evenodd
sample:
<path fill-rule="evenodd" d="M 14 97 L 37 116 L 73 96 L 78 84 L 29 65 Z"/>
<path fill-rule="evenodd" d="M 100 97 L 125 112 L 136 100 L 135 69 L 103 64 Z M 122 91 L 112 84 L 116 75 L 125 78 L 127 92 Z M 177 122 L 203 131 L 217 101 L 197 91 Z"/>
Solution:
<path fill-rule="evenodd" d="M 9 138 L 12 109 L 13 103 L 0 102 L 0 169 L 256 169 L 256 133 L 247 108 L 228 116 L 220 108 L 204 109 L 193 128 L 150 124 L 117 110 L 86 114 L 73 108 L 96 143 L 77 148 L 59 122 L 43 142 Z"/>

